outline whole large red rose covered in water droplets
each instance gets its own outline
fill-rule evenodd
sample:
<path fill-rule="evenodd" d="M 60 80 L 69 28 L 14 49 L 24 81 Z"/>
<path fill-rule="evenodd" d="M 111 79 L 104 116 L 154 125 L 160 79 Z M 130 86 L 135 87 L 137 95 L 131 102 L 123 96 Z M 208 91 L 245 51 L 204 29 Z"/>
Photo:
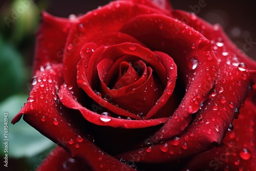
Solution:
<path fill-rule="evenodd" d="M 151 0 L 42 18 L 12 120 L 62 147 L 38 170 L 256 169 L 256 62 L 220 26 Z"/>

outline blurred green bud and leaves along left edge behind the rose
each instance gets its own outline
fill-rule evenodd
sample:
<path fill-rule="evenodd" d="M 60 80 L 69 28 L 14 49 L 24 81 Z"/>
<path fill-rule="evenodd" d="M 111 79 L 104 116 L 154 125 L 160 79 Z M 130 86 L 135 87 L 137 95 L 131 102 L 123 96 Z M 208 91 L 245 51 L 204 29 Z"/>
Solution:
<path fill-rule="evenodd" d="M 55 144 L 21 119 L 12 118 L 27 101 L 31 65 L 40 11 L 48 1 L 6 1 L 0 7 L 0 138 L 4 139 L 4 113 L 8 113 L 9 170 L 35 170 Z M 0 157 L 4 154 L 0 146 Z M 6 169 L 6 168 L 5 168 Z M 2 170 L 2 169 L 1 169 Z"/>

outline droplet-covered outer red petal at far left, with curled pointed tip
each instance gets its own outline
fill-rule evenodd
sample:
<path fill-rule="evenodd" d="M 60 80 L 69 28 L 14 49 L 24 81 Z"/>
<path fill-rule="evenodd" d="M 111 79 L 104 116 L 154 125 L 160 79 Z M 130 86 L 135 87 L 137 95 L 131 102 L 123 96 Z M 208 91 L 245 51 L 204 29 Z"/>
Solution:
<path fill-rule="evenodd" d="M 72 158 L 88 163 L 93 170 L 132 170 L 130 166 L 102 152 L 86 138 L 88 130 L 84 126 L 87 125 L 85 120 L 59 102 L 57 92 L 63 82 L 62 71 L 62 65 L 53 65 L 52 68 L 36 72 L 38 82 L 33 87 L 28 102 L 13 118 L 12 123 L 16 123 L 24 114 L 24 120 L 37 131 L 65 148 Z"/>

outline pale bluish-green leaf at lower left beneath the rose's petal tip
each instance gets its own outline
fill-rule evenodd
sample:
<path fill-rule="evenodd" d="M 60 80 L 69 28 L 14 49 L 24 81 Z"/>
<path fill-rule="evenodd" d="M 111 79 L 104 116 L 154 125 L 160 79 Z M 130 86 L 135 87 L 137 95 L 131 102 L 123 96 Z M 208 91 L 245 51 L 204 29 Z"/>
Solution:
<path fill-rule="evenodd" d="M 0 103 L 1 130 L 4 130 L 4 113 L 8 113 L 8 156 L 12 158 L 32 157 L 55 146 L 55 143 L 41 135 L 23 119 L 14 125 L 11 124 L 12 118 L 19 112 L 24 102 L 27 101 L 27 97 L 28 95 L 15 95 Z M 4 140 L 2 131 L 0 138 L 1 141 Z M 3 151 L 1 149 L 1 156 L 3 156 Z"/>

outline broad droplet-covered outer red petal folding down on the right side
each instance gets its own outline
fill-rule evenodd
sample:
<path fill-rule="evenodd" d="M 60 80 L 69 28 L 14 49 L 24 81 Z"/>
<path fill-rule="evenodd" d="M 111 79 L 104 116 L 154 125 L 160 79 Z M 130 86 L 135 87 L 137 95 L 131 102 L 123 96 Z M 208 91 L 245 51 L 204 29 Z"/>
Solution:
<path fill-rule="evenodd" d="M 200 25 L 200 22 L 196 22 L 197 25 Z M 210 29 L 206 27 L 206 30 Z M 210 35 L 213 34 L 211 33 Z M 215 35 L 215 37 L 218 36 Z M 226 59 L 225 57 L 220 56 L 223 49 L 220 49 L 220 51 L 218 48 L 215 48 L 215 50 L 217 57 L 219 57 L 223 62 L 223 59 Z M 230 51 L 230 53 L 232 54 L 233 52 Z M 224 56 L 227 55 L 228 54 L 224 54 Z M 221 60 L 219 61 L 221 62 Z M 127 157 L 127 159 L 130 159 L 131 156 L 139 156 L 144 158 L 144 160 L 140 162 L 160 163 L 176 160 L 176 157 L 183 158 L 193 156 L 213 147 L 215 143 L 220 144 L 229 124 L 232 122 L 234 117 L 238 117 L 236 115 L 238 115 L 240 106 L 246 97 L 248 86 L 253 82 L 253 78 L 249 75 L 246 67 L 243 68 L 244 65 L 241 66 L 238 63 L 236 66 L 236 63 L 232 63 L 231 66 L 230 63 L 226 62 L 226 60 L 221 64 L 220 71 L 223 71 L 223 73 L 219 73 L 218 82 L 215 89 L 212 90 L 209 95 L 209 100 L 206 101 L 204 104 L 205 106 L 203 106 L 200 113 L 198 113 L 196 118 L 193 120 L 193 123 L 190 123 L 188 129 L 180 138 L 163 141 L 162 145 L 154 145 L 151 149 L 151 154 L 144 153 L 145 155 L 141 156 L 140 153 L 132 151 L 119 155 L 118 157 Z M 252 68 L 255 68 L 255 66 L 253 67 L 252 65 Z M 214 70 L 216 70 L 216 68 L 214 68 Z M 170 127 L 163 126 L 161 131 L 155 134 L 154 138 L 156 139 L 156 142 L 154 143 L 158 142 L 158 137 L 164 137 L 165 133 L 169 131 Z M 174 141 L 175 139 L 177 141 Z M 146 148 L 141 148 L 139 150 L 146 151 Z M 128 154 L 130 157 L 128 157 Z"/>

